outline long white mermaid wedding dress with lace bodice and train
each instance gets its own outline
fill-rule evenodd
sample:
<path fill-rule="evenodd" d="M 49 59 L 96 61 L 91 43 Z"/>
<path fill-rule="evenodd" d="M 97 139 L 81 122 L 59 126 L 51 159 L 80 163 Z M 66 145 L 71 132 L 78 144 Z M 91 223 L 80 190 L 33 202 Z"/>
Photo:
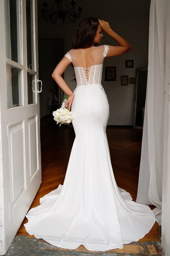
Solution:
<path fill-rule="evenodd" d="M 71 49 L 65 55 L 73 63 L 77 87 L 71 107 L 76 137 L 64 184 L 40 198 L 24 226 L 57 247 L 106 251 L 144 237 L 155 215 L 118 188 L 113 175 L 106 137 L 109 104 L 101 85 L 108 45 L 92 48 L 90 68 L 80 65 L 80 52 Z"/>

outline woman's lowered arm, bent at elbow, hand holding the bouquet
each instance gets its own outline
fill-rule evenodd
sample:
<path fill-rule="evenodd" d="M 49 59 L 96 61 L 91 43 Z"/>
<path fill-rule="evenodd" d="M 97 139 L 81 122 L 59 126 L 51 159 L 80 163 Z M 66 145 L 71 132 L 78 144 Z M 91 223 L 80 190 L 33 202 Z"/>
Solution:
<path fill-rule="evenodd" d="M 62 78 L 62 74 L 66 70 L 66 67 L 70 65 L 71 61 L 68 60 L 68 58 L 63 57 L 62 60 L 58 63 L 58 65 L 55 67 L 55 70 L 53 71 L 52 77 L 55 80 L 55 82 L 58 84 L 58 86 L 68 95 L 68 100 L 65 103 L 65 106 L 68 104 L 68 110 L 71 109 L 71 104 L 74 99 L 74 94 L 71 91 L 71 89 L 68 87 L 64 79 Z"/>

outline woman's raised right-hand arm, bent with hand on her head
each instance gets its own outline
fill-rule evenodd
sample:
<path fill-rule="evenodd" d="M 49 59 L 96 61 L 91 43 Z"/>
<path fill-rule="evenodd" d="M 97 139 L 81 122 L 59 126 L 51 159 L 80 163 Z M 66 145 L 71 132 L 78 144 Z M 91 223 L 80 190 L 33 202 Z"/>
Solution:
<path fill-rule="evenodd" d="M 99 20 L 99 19 L 98 19 Z M 124 54 L 132 49 L 130 43 L 114 32 L 107 21 L 99 20 L 99 24 L 106 34 L 111 36 L 119 46 L 109 46 L 107 57 Z"/>

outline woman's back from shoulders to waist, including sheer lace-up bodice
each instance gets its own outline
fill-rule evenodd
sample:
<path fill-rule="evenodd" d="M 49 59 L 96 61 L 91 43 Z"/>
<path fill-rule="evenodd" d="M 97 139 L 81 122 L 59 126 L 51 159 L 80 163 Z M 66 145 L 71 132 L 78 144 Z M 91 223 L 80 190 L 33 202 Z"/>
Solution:
<path fill-rule="evenodd" d="M 77 86 L 100 84 L 102 80 L 103 60 L 108 52 L 108 45 L 92 47 L 91 49 L 71 49 L 65 54 L 74 66 Z M 88 57 L 89 56 L 89 57 Z M 89 67 L 82 64 L 92 63 Z"/>

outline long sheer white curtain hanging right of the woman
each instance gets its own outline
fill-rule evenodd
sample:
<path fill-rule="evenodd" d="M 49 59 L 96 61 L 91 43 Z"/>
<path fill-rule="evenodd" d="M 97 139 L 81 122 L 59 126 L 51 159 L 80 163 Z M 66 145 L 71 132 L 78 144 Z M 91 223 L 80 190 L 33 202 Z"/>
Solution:
<path fill-rule="evenodd" d="M 148 82 L 136 200 L 156 206 L 153 212 L 159 225 L 163 174 L 165 1 L 151 0 L 150 5 Z"/>

